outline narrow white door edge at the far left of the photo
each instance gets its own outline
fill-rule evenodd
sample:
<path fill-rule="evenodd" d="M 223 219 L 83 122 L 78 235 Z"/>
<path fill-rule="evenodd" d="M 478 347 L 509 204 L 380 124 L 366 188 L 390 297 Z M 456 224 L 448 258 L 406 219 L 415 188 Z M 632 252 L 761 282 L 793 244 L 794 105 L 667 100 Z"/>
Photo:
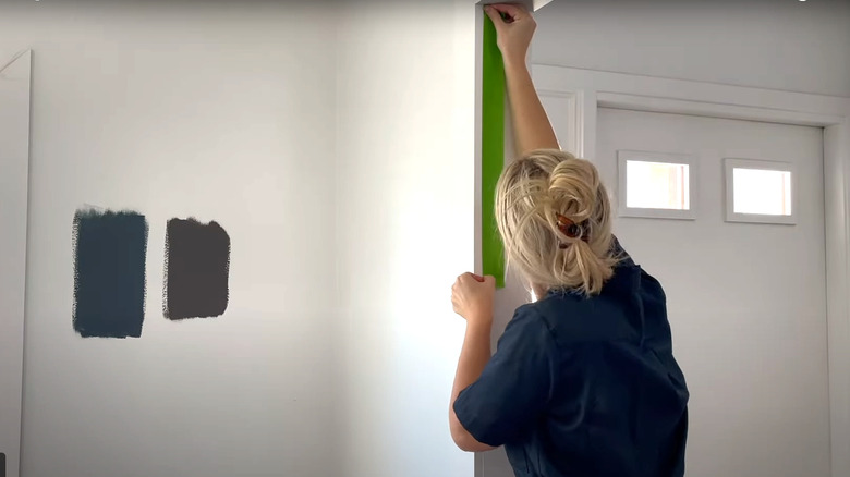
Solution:
<path fill-rule="evenodd" d="M 24 359 L 29 53 L 0 54 L 0 476 L 17 477 Z M 3 68 L 5 66 L 5 68 Z"/>

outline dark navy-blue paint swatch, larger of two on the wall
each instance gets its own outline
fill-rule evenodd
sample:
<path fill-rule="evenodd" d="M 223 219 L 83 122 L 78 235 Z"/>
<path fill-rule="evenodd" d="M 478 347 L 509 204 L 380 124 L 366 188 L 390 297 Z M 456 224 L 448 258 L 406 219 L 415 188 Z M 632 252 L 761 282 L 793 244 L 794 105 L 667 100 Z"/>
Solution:
<path fill-rule="evenodd" d="M 145 319 L 147 221 L 131 211 L 74 215 L 74 331 L 138 338 Z"/>

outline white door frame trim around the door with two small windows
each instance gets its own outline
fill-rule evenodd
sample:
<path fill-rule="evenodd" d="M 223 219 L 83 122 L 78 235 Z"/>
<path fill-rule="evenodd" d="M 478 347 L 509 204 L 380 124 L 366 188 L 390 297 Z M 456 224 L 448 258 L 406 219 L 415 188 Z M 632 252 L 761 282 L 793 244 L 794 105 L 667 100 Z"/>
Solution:
<path fill-rule="evenodd" d="M 532 74 L 561 145 L 590 160 L 600 107 L 824 129 L 830 468 L 850 475 L 850 98 L 542 64 Z"/>

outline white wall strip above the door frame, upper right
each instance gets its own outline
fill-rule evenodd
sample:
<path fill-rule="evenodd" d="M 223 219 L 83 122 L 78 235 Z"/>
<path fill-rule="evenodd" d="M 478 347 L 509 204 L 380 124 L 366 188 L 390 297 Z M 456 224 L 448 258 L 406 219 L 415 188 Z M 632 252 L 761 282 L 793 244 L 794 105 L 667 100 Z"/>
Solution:
<path fill-rule="evenodd" d="M 533 61 L 850 97 L 848 0 L 558 0 Z"/>

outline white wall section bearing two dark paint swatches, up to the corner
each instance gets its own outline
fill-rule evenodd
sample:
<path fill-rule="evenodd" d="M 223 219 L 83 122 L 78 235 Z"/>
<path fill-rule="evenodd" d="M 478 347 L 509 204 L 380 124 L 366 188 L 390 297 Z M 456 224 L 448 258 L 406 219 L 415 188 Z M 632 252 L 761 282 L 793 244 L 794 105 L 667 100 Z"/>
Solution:
<path fill-rule="evenodd" d="M 34 50 L 24 477 L 339 475 L 332 16 L 311 2 L 4 2 Z M 74 209 L 150 225 L 138 340 L 71 326 Z M 230 232 L 224 317 L 161 316 L 166 220 Z"/>

